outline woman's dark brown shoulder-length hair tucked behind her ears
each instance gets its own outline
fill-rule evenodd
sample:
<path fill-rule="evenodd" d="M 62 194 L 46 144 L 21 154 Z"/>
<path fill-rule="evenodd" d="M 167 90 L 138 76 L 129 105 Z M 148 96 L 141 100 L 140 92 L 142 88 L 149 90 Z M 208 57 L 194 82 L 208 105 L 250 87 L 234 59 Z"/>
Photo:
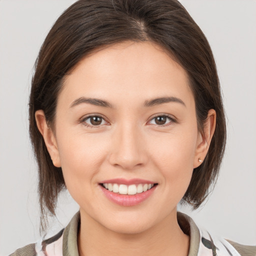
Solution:
<path fill-rule="evenodd" d="M 58 193 L 65 188 L 61 168 L 52 164 L 35 121 L 42 109 L 50 127 L 58 94 L 67 72 L 99 47 L 121 42 L 152 41 L 165 49 L 187 72 L 193 91 L 198 130 L 209 109 L 216 111 L 216 127 L 206 158 L 194 168 L 181 202 L 197 208 L 206 198 L 223 157 L 225 116 L 210 46 L 177 0 L 78 0 L 53 24 L 35 62 L 29 100 L 29 131 L 38 163 L 41 227 L 47 214 L 55 215 Z"/>

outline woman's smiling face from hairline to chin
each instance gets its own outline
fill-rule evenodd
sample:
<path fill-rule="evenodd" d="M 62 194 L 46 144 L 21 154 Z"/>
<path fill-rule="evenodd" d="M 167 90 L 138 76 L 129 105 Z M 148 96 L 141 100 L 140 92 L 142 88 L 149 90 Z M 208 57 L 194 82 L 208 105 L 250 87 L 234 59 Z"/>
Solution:
<path fill-rule="evenodd" d="M 184 69 L 155 44 L 123 42 L 66 76 L 49 151 L 83 219 L 136 233 L 175 215 L 200 143 Z"/>

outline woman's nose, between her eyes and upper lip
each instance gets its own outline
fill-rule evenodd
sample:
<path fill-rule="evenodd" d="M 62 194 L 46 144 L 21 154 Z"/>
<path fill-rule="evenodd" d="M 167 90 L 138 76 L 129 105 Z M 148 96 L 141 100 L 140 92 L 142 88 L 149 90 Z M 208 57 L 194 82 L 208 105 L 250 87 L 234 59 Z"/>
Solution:
<path fill-rule="evenodd" d="M 135 125 L 124 124 L 116 128 L 111 141 L 112 150 L 109 155 L 111 165 L 132 170 L 146 163 L 144 136 Z"/>

